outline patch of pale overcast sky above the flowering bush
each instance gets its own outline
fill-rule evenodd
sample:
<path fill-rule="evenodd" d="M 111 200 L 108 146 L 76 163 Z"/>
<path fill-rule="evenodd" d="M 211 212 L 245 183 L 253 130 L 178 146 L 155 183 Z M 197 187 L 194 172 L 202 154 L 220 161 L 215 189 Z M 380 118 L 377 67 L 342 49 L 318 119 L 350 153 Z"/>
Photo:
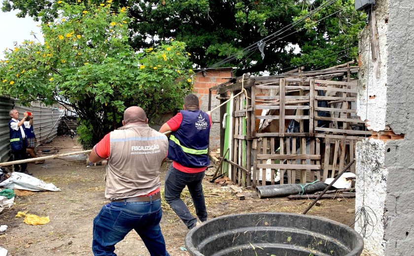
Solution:
<path fill-rule="evenodd" d="M 0 1 L 0 8 L 2 4 Z M 17 11 L 2 12 L 0 10 L 0 59 L 4 58 L 5 48 L 14 48 L 14 43 L 21 44 L 24 40 L 33 40 L 35 37 L 31 35 L 31 32 L 35 32 L 36 37 L 43 42 L 43 36 L 40 32 L 40 28 L 36 25 L 40 24 L 35 22 L 32 18 L 17 18 Z"/>

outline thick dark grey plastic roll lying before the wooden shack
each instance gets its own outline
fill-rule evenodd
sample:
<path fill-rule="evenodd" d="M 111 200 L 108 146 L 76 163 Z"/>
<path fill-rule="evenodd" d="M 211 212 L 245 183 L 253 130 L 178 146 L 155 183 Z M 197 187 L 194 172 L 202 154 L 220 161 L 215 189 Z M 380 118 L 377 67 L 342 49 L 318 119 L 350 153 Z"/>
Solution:
<path fill-rule="evenodd" d="M 324 190 L 328 185 L 323 182 L 313 184 L 278 184 L 256 187 L 259 198 L 282 197 L 291 194 L 307 194 Z"/>

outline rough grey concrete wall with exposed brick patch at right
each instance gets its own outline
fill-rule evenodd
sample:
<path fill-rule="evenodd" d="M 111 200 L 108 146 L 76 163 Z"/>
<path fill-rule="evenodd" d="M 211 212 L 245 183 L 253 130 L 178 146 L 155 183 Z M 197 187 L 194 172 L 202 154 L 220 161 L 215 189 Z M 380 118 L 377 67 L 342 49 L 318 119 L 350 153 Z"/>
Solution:
<path fill-rule="evenodd" d="M 362 119 L 367 116 L 375 135 L 357 145 L 355 207 L 364 202 L 377 215 L 378 224 L 364 239 L 371 255 L 413 255 L 414 4 L 413 0 L 376 2 L 380 65 L 372 55 L 368 59 L 367 27 L 360 38 L 358 99 L 358 114 Z M 367 95 L 372 97 L 368 102 Z M 355 224 L 355 229 L 360 231 L 361 225 Z"/>

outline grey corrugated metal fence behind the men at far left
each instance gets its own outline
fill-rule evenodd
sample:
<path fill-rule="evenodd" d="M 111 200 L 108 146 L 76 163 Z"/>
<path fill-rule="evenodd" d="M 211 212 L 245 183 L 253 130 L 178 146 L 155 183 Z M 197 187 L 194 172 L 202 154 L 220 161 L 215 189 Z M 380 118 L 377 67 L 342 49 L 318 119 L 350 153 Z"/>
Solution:
<path fill-rule="evenodd" d="M 33 126 L 37 138 L 37 144 L 46 139 L 53 139 L 58 133 L 58 121 L 65 113 L 63 110 L 48 107 L 26 107 L 19 104 L 14 105 L 13 100 L 0 97 L 0 160 L 7 161 L 10 154 L 10 135 L 8 122 L 10 120 L 9 111 L 13 108 L 19 111 L 20 118 L 25 111 L 33 113 Z"/>

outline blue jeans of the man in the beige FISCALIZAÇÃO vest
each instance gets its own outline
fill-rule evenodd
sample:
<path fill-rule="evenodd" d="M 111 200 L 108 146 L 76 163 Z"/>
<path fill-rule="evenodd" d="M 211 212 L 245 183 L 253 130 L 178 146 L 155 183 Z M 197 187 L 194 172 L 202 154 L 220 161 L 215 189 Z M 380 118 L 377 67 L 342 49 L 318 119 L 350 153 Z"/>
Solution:
<path fill-rule="evenodd" d="M 92 251 L 95 256 L 116 256 L 115 244 L 134 229 L 151 256 L 169 256 L 160 221 L 161 199 L 149 202 L 110 202 L 94 219 Z"/>

